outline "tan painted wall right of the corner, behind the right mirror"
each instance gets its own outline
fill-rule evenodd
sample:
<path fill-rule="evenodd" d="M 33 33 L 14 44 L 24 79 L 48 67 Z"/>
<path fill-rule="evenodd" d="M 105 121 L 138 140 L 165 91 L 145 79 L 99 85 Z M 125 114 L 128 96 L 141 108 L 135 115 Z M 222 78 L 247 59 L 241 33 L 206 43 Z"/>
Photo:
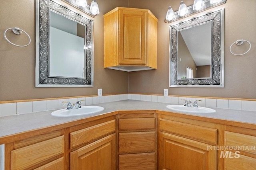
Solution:
<path fill-rule="evenodd" d="M 184 0 L 187 6 L 193 0 Z M 213 9 L 224 8 L 224 88 L 169 88 L 169 25 L 164 23 L 166 11 L 171 5 L 178 10 L 179 0 L 135 0 L 129 1 L 131 8 L 147 8 L 158 18 L 157 70 L 129 73 L 129 92 L 163 94 L 169 89 L 170 95 L 210 96 L 227 98 L 256 98 L 256 0 L 227 0 L 226 4 Z M 212 10 L 213 10 L 212 9 Z M 210 11 L 210 10 L 208 10 Z M 201 12 L 202 14 L 204 12 Z M 193 16 L 196 16 L 195 14 Z M 190 18 L 192 16 L 189 16 Z M 185 18 L 186 19 L 186 18 Z M 181 20 L 178 20 L 179 22 Z M 246 39 L 252 49 L 243 56 L 230 53 L 230 45 Z M 238 50 L 240 49 L 240 50 Z M 244 53 L 248 46 L 235 47 L 234 52 Z"/>

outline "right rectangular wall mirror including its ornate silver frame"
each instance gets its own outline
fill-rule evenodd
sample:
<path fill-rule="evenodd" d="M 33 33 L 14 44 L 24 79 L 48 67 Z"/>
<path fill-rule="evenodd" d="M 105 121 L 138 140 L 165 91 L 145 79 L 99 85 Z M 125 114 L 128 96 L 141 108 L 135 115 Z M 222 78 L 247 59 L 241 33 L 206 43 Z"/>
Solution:
<path fill-rule="evenodd" d="M 170 26 L 170 87 L 224 87 L 224 9 Z"/>

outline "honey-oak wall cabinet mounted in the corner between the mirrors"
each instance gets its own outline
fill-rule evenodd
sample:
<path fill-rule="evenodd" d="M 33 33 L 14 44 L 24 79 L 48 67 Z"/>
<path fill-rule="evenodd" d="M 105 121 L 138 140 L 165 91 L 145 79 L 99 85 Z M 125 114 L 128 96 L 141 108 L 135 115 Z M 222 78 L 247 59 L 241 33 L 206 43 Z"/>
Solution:
<path fill-rule="evenodd" d="M 157 18 L 146 9 L 117 7 L 104 15 L 104 68 L 156 69 Z"/>

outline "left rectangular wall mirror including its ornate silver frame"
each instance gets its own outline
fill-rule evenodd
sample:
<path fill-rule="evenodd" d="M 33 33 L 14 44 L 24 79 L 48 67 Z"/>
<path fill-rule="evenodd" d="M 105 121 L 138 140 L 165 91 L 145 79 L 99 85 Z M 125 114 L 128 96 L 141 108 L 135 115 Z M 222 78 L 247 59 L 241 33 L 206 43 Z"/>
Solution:
<path fill-rule="evenodd" d="M 36 87 L 92 87 L 92 20 L 36 0 Z"/>

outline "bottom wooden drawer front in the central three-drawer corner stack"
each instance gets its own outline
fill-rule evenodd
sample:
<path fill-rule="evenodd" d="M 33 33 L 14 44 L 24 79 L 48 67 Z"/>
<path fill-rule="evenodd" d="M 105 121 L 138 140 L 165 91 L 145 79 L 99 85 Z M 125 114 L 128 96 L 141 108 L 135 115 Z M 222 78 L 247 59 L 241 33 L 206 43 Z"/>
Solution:
<path fill-rule="evenodd" d="M 155 170 L 156 153 L 121 154 L 119 170 Z"/>

